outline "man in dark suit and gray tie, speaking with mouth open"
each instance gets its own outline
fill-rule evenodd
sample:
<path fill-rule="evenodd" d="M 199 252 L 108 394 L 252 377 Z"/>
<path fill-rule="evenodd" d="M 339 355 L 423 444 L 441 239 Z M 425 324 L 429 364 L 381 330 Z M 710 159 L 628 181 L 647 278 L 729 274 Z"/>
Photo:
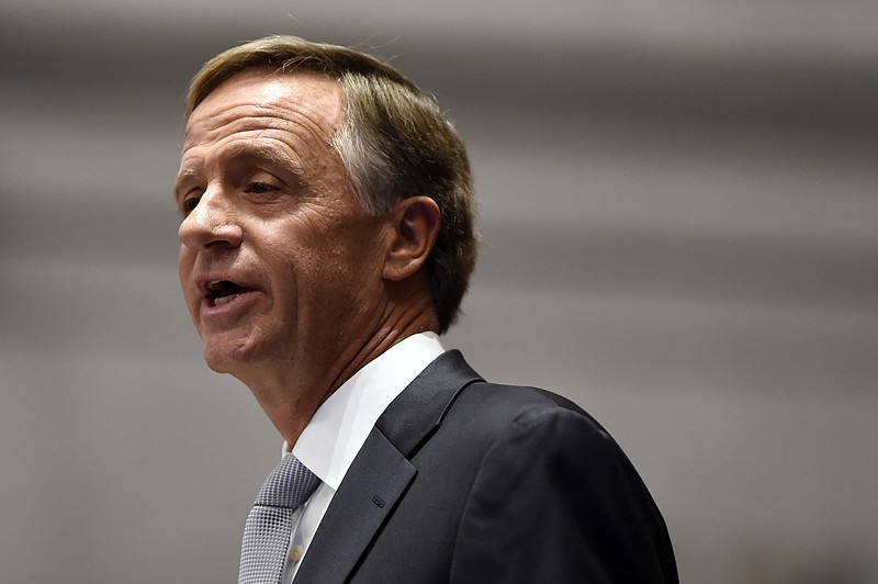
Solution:
<path fill-rule="evenodd" d="M 402 75 L 295 37 L 218 55 L 190 88 L 176 199 L 205 360 L 291 450 L 240 582 L 677 581 L 592 417 L 442 349 L 475 258 L 470 168 Z"/>

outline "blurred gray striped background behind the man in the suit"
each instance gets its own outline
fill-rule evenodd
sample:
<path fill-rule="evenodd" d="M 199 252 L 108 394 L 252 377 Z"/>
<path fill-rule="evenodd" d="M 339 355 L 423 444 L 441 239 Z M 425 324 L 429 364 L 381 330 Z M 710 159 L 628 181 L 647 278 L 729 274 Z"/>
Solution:
<path fill-rule="evenodd" d="M 293 33 L 459 126 L 485 244 L 447 345 L 600 419 L 684 582 L 878 582 L 876 31 L 870 0 L 0 0 L 0 581 L 235 581 L 281 440 L 202 362 L 170 190 L 189 78 Z"/>

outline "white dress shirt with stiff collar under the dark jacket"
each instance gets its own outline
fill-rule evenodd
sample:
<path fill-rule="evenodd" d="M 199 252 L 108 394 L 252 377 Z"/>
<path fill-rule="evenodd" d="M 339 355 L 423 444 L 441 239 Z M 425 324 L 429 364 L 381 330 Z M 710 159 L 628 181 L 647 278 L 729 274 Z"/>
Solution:
<path fill-rule="evenodd" d="M 413 335 L 370 361 L 314 413 L 292 448 L 320 479 L 293 515 L 293 532 L 281 582 L 291 583 L 329 503 L 369 433 L 393 402 L 444 349 L 434 333 Z M 284 442 L 283 453 L 290 452 Z"/>

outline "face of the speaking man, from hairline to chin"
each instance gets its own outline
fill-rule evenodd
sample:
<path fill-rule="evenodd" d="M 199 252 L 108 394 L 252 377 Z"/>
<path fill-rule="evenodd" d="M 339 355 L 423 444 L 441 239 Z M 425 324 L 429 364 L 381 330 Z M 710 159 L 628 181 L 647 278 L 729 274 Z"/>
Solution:
<path fill-rule="evenodd" d="M 323 76 L 248 71 L 187 124 L 180 282 L 205 360 L 245 383 L 325 381 L 383 312 L 386 223 L 330 146 L 341 103 Z"/>

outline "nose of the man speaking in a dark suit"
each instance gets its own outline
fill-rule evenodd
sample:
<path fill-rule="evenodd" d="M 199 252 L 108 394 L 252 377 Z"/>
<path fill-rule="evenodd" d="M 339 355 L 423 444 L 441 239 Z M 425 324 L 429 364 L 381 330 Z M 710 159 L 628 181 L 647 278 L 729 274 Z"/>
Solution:
<path fill-rule="evenodd" d="M 222 190 L 211 187 L 180 223 L 178 236 L 185 247 L 204 250 L 217 246 L 238 247 L 244 232 Z"/>

